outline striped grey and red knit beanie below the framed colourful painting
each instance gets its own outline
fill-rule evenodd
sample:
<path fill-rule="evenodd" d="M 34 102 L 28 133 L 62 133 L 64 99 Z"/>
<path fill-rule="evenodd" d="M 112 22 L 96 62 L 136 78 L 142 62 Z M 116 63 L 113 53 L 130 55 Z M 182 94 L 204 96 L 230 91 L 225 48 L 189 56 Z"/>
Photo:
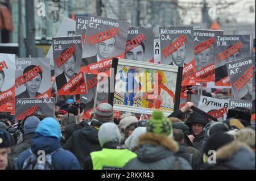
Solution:
<path fill-rule="evenodd" d="M 101 123 L 114 122 L 114 110 L 108 103 L 101 103 L 96 107 L 94 118 Z"/>

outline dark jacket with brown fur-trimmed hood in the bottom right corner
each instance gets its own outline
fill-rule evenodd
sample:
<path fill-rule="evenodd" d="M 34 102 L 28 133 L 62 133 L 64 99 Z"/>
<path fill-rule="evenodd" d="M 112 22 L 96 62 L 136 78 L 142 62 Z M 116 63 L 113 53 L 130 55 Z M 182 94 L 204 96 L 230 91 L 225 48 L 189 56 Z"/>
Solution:
<path fill-rule="evenodd" d="M 216 164 L 205 164 L 204 169 L 255 170 L 255 154 L 243 142 L 233 141 L 216 152 Z"/>

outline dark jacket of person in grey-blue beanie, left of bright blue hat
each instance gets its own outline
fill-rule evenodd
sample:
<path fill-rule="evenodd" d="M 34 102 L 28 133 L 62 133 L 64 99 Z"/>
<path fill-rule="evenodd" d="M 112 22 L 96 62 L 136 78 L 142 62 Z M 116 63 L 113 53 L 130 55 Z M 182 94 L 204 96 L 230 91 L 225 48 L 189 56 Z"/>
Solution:
<path fill-rule="evenodd" d="M 21 144 L 15 146 L 13 150 L 14 157 L 18 157 L 20 153 L 23 151 L 27 150 L 28 148 L 31 147 L 31 140 L 35 136 L 35 133 L 28 133 L 23 136 L 23 141 Z"/>

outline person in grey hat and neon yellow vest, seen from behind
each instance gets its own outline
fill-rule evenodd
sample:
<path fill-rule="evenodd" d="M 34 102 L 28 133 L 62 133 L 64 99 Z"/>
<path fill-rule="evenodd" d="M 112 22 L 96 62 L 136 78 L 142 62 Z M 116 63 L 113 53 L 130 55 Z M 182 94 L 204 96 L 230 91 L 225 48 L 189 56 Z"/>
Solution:
<path fill-rule="evenodd" d="M 85 160 L 86 170 L 122 169 L 137 155 L 130 150 L 121 148 L 121 134 L 114 123 L 104 123 L 98 131 L 101 151 L 93 151 Z"/>

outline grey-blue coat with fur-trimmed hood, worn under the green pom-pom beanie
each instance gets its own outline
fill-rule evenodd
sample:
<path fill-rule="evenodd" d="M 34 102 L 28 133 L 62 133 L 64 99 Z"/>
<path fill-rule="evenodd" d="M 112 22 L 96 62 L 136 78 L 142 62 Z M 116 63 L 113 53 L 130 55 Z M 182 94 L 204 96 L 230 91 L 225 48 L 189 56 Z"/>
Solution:
<path fill-rule="evenodd" d="M 166 136 L 146 133 L 139 137 L 137 158 L 131 159 L 123 170 L 191 170 L 189 163 L 175 155 L 177 142 Z"/>

